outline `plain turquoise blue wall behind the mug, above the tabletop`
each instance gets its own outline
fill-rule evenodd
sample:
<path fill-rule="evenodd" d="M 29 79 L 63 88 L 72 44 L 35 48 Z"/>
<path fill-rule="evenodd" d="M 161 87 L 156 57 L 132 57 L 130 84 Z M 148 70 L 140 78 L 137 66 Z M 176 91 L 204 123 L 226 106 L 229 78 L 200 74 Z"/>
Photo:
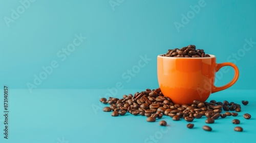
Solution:
<path fill-rule="evenodd" d="M 22 0 L 25 1 L 25 0 Z M 114 1 L 116 2 L 116 1 Z M 18 1 L 0 1 L 0 81 L 12 88 L 28 89 L 34 75 L 53 60 L 59 63 L 36 88 L 157 88 L 156 57 L 168 49 L 195 44 L 217 56 L 217 62 L 234 62 L 240 77 L 230 89 L 254 89 L 256 45 L 239 60 L 245 39 L 256 41 L 256 1 L 209 1 L 178 30 L 197 1 L 130 0 L 111 7 L 109 1 L 35 1 L 14 22 Z M 65 61 L 56 56 L 73 42 L 74 34 L 87 37 Z M 247 45 L 248 46 L 248 45 Z M 241 51 L 240 51 L 241 52 Z M 243 53 L 242 53 L 243 54 Z M 152 59 L 131 80 L 122 77 L 141 56 Z M 240 54 L 241 55 L 241 54 Z M 233 77 L 233 69 L 220 75 L 217 85 Z M 127 76 L 127 75 L 126 75 Z M 2 88 L 2 87 L 1 87 Z"/>

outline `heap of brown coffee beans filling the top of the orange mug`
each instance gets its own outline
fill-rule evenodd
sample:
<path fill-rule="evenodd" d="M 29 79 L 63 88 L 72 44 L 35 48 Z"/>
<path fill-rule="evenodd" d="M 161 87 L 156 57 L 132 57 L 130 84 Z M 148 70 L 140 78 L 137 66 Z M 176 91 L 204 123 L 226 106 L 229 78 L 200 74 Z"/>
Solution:
<path fill-rule="evenodd" d="M 203 49 L 196 49 L 195 45 L 188 45 L 182 47 L 181 49 L 170 49 L 166 54 L 163 54 L 164 57 L 185 57 L 185 58 L 201 58 L 201 57 L 210 57 L 210 55 L 205 54 Z"/>

